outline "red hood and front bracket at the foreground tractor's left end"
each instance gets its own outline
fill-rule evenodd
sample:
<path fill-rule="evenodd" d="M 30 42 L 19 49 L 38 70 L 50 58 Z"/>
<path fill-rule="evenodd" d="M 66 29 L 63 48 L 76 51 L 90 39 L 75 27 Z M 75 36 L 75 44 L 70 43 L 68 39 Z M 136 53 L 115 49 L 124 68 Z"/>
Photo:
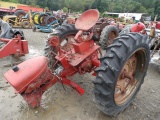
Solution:
<path fill-rule="evenodd" d="M 4 77 L 32 108 L 40 106 L 43 93 L 57 82 L 48 68 L 48 59 L 44 56 L 14 66 Z"/>

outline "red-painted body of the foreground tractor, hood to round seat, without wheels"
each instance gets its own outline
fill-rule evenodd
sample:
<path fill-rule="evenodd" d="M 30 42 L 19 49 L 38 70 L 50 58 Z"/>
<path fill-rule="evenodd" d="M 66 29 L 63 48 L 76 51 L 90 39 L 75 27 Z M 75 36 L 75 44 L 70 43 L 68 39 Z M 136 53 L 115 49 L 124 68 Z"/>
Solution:
<path fill-rule="evenodd" d="M 90 17 L 90 14 L 96 16 Z M 76 25 L 88 24 L 87 27 L 82 26 L 84 27 L 84 29 L 82 28 L 83 30 L 88 30 L 90 27 L 94 26 L 93 23 L 96 24 L 96 19 L 98 19 L 97 15 L 99 15 L 97 10 L 85 12 L 84 15 L 82 14 L 82 17 L 79 18 L 80 20 L 77 20 L 79 22 Z M 83 17 L 90 22 L 83 21 L 85 20 Z M 82 24 L 80 23 L 81 19 L 83 22 Z M 80 95 L 84 94 L 84 89 L 75 82 L 69 80 L 68 77 L 76 73 L 85 74 L 87 72 L 94 72 L 100 65 L 98 59 L 100 47 L 91 39 L 93 36 L 92 30 L 85 35 L 83 34 L 83 30 L 77 33 L 78 35 L 76 35 L 76 38 L 80 41 L 72 44 L 72 52 L 65 51 L 59 46 L 60 40 L 58 37 L 49 39 L 50 45 L 56 47 L 58 52 L 55 58 L 59 65 L 63 67 L 63 69 L 60 69 L 61 71 L 59 71 L 59 73 L 51 73 L 53 70 L 49 69 L 48 60 L 43 56 L 35 57 L 19 64 L 19 70 L 17 72 L 9 70 L 5 73 L 4 76 L 7 81 L 23 96 L 24 100 L 31 107 L 40 106 L 43 93 L 56 82 L 70 86 Z M 55 43 L 55 41 L 58 43 Z M 54 67 L 51 69 L 58 68 Z"/>

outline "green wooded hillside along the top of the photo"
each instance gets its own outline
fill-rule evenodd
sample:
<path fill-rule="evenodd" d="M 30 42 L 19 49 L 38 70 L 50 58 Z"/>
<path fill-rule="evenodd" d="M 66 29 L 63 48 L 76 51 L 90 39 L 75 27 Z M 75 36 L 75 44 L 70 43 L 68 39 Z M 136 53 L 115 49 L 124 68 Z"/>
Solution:
<path fill-rule="evenodd" d="M 72 12 L 83 12 L 94 8 L 101 13 L 108 12 L 135 12 L 148 13 L 152 18 L 158 14 L 160 16 L 160 0 L 2 0 L 7 2 L 22 3 L 49 10 L 59 10 L 64 8 Z M 67 9 L 66 9 L 67 8 Z M 68 10 L 67 10 L 68 11 Z M 158 17 L 160 18 L 160 17 Z"/>

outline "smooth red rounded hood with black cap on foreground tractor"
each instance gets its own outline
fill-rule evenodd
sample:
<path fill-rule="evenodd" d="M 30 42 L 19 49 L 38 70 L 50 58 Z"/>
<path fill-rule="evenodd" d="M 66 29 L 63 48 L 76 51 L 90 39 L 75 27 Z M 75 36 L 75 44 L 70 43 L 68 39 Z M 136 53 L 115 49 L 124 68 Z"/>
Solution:
<path fill-rule="evenodd" d="M 17 93 L 21 93 L 31 82 L 36 81 L 45 72 L 47 66 L 48 60 L 46 57 L 35 57 L 14 66 L 4 74 L 4 77 Z"/>

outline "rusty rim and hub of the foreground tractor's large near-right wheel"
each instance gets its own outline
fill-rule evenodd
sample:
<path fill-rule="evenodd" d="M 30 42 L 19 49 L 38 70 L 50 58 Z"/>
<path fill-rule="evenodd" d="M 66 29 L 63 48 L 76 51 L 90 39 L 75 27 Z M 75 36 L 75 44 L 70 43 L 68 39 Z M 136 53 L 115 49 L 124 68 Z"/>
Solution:
<path fill-rule="evenodd" d="M 125 62 L 117 79 L 114 93 L 114 99 L 117 105 L 125 104 L 132 97 L 137 89 L 137 85 L 140 83 L 140 81 L 135 78 L 139 58 L 137 54 L 144 55 L 145 53 L 143 50 L 139 50 L 132 54 L 132 56 Z M 139 69 L 142 69 L 143 64 L 139 67 Z"/>

